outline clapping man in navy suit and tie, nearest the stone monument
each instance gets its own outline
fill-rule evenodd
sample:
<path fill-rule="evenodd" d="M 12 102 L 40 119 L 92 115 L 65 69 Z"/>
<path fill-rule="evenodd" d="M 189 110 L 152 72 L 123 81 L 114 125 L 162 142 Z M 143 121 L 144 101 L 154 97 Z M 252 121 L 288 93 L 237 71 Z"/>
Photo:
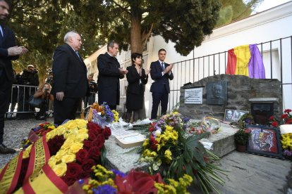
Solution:
<path fill-rule="evenodd" d="M 162 106 L 162 115 L 166 114 L 167 104 L 169 103 L 169 79 L 174 79 L 171 72 L 173 64 L 164 63 L 166 51 L 161 48 L 158 51 L 159 60 L 154 61 L 150 65 L 150 75 L 154 82 L 151 85 L 152 92 L 152 111 L 151 119 L 157 119 L 157 110 L 159 103 Z"/>

